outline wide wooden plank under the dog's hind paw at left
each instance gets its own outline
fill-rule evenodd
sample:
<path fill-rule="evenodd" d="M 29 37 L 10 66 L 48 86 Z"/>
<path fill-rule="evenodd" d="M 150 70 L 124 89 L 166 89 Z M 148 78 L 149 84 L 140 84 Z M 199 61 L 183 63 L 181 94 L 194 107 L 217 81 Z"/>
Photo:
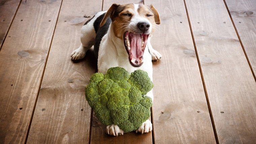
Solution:
<path fill-rule="evenodd" d="M 91 108 L 84 88 L 96 71 L 89 51 L 73 62 L 82 25 L 100 11 L 102 3 L 63 0 L 27 143 L 89 143 Z M 91 53 L 90 53 L 91 52 Z"/>

